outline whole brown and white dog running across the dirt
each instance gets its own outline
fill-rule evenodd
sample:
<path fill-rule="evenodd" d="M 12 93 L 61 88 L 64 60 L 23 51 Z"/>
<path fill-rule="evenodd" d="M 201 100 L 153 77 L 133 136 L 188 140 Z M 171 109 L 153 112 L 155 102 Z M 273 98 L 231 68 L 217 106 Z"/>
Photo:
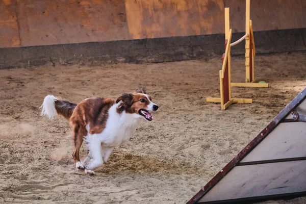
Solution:
<path fill-rule="evenodd" d="M 94 174 L 93 169 L 106 163 L 116 146 L 132 137 L 142 119 L 152 120 L 149 111 L 157 111 L 158 106 L 152 103 L 145 89 L 139 88 L 133 94 L 121 94 L 116 100 L 86 98 L 78 105 L 47 95 L 41 108 L 41 114 L 49 119 L 61 115 L 69 120 L 74 163 L 78 169 Z M 88 155 L 81 162 L 79 154 L 83 140 Z"/>

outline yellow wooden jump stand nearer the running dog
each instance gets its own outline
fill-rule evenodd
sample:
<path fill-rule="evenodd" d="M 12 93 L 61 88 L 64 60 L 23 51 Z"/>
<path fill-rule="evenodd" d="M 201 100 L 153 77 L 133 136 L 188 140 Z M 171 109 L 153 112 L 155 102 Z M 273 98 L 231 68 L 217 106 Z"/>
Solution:
<path fill-rule="evenodd" d="M 220 78 L 220 98 L 206 98 L 207 102 L 221 103 L 221 109 L 225 110 L 234 103 L 250 104 L 251 98 L 232 98 L 231 93 L 231 39 L 232 29 L 230 29 L 230 9 L 225 8 L 225 53 L 222 56 L 222 69 L 219 71 Z M 245 35 L 246 36 L 246 35 Z M 241 42 L 243 38 L 237 40 L 233 45 Z"/>

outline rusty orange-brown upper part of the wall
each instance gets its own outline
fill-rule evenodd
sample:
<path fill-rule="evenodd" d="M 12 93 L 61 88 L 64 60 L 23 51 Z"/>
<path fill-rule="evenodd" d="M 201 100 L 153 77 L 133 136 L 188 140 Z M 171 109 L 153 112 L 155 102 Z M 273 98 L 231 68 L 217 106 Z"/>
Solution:
<path fill-rule="evenodd" d="M 0 47 L 220 34 L 224 7 L 234 32 L 245 0 L 1 0 Z M 251 0 L 254 31 L 306 28 L 306 1 Z"/>

